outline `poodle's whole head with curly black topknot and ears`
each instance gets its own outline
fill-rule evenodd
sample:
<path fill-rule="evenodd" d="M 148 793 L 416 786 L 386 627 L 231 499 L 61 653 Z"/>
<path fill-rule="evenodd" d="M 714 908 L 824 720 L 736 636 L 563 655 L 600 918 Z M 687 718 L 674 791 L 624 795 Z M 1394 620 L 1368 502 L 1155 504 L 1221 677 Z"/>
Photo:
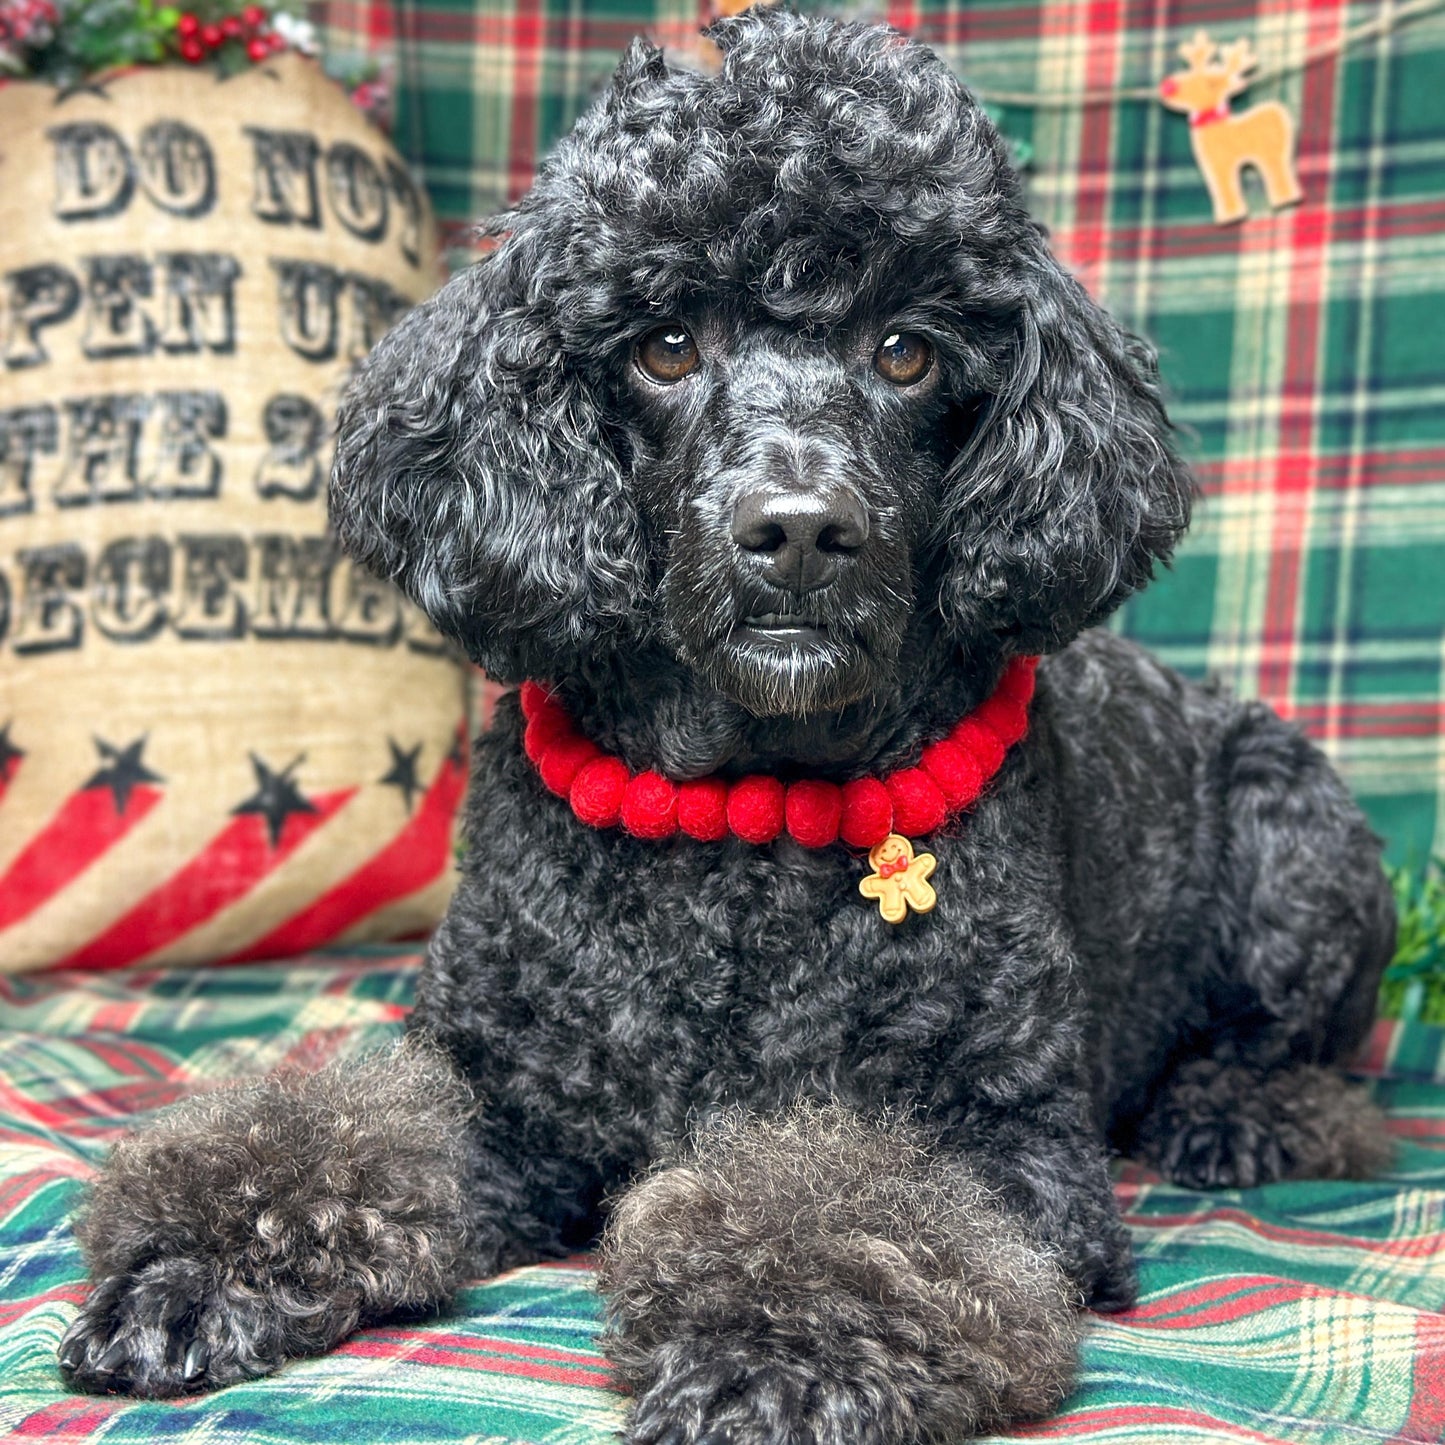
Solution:
<path fill-rule="evenodd" d="M 1062 646 L 1188 522 L 1152 357 L 928 49 L 776 10 L 639 42 L 342 406 L 347 548 L 488 670 L 665 647 L 757 715 Z"/>

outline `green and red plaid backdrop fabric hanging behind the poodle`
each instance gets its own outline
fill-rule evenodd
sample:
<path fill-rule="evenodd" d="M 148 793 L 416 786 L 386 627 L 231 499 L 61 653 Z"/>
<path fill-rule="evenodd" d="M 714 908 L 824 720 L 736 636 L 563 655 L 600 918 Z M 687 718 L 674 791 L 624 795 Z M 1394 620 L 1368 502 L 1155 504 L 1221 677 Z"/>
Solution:
<path fill-rule="evenodd" d="M 890 0 L 988 101 L 1152 88 L 1196 27 L 1247 36 L 1243 110 L 1299 123 L 1305 201 L 1215 227 L 1183 116 L 1152 100 L 1003 104 L 1061 259 L 1160 348 L 1204 504 L 1117 626 L 1298 720 L 1396 858 L 1445 850 L 1445 12 L 1299 68 L 1370 0 Z M 394 38 L 397 143 L 451 228 L 538 158 L 646 30 L 685 46 L 705 0 L 405 0 L 322 7 L 332 46 Z"/>

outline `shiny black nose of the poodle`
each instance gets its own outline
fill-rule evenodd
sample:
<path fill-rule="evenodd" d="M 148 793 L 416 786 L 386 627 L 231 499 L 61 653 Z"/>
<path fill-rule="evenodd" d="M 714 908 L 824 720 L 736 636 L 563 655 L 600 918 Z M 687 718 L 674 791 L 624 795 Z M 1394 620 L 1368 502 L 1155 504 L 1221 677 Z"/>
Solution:
<path fill-rule="evenodd" d="M 733 540 L 767 559 L 770 581 L 793 592 L 827 587 L 838 558 L 868 540 L 868 514 L 851 487 L 754 487 L 733 507 Z"/>

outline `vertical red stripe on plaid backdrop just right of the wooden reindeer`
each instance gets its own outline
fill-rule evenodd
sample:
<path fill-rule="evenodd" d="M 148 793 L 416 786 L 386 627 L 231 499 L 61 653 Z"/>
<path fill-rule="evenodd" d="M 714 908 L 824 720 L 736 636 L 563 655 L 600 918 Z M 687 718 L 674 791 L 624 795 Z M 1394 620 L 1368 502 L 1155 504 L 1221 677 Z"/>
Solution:
<path fill-rule="evenodd" d="M 1312 4 L 1305 32 L 1311 49 L 1338 38 L 1341 9 Z M 1285 374 L 1280 386 L 1279 461 L 1274 468 L 1276 514 L 1270 538 L 1269 581 L 1264 592 L 1263 637 L 1285 644 L 1283 653 L 1261 660 L 1259 695 L 1283 717 L 1293 717 L 1293 642 L 1299 618 L 1309 491 L 1316 457 L 1316 406 L 1325 262 L 1331 241 L 1329 176 L 1334 139 L 1334 56 L 1308 66 L 1299 118 L 1298 168 L 1305 199 L 1287 224 L 1290 279 L 1285 327 Z"/>

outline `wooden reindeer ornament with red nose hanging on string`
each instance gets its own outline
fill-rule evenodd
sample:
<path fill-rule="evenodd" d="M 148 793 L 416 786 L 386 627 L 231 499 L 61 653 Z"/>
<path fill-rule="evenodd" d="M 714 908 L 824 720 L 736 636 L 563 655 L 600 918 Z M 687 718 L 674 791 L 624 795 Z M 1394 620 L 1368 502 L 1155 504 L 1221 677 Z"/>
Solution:
<path fill-rule="evenodd" d="M 1214 221 L 1227 225 L 1248 214 L 1240 173 L 1254 166 L 1264 181 L 1264 195 L 1274 208 L 1303 199 L 1295 175 L 1295 121 L 1277 101 L 1263 101 L 1238 116 L 1230 113 L 1230 100 L 1248 84 L 1244 77 L 1254 69 L 1256 58 L 1248 40 L 1235 40 L 1215 59 L 1218 46 L 1204 30 L 1179 46 L 1189 66 L 1166 75 L 1159 98 L 1170 110 L 1189 116 L 1189 143 L 1194 159 L 1204 172 L 1204 184 L 1214 202 Z"/>

